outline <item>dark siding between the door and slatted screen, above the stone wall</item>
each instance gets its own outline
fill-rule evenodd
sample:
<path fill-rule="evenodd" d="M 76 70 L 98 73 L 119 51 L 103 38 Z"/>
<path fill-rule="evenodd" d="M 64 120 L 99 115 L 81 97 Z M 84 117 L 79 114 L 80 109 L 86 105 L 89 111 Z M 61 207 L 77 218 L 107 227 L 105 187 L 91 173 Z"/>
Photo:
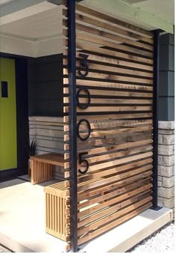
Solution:
<path fill-rule="evenodd" d="M 29 115 L 63 116 L 63 57 L 28 61 Z"/>

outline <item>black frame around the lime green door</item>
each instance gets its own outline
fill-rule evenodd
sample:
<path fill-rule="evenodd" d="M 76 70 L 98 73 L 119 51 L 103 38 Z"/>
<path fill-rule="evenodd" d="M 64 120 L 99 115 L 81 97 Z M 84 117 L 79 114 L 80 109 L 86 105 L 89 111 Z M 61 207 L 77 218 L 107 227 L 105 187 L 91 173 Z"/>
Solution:
<path fill-rule="evenodd" d="M 24 56 L 2 52 L 0 58 L 15 60 L 16 69 L 17 168 L 0 171 L 0 182 L 3 182 L 28 173 L 28 60 Z"/>

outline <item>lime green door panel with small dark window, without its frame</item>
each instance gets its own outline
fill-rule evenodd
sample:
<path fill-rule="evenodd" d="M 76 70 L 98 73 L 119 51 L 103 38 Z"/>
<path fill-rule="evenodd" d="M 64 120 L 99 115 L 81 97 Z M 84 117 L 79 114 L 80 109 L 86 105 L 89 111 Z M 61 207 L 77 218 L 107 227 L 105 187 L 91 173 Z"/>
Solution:
<path fill-rule="evenodd" d="M 8 97 L 1 97 L 1 81 Z M 0 58 L 0 171 L 17 167 L 15 61 Z"/>

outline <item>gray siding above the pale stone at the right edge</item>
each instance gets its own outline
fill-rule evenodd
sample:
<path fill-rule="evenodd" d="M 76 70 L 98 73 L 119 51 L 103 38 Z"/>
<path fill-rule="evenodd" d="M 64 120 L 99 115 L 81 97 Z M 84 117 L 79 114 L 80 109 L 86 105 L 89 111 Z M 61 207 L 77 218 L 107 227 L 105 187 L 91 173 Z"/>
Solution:
<path fill-rule="evenodd" d="M 159 120 L 175 120 L 175 37 L 160 37 Z"/>

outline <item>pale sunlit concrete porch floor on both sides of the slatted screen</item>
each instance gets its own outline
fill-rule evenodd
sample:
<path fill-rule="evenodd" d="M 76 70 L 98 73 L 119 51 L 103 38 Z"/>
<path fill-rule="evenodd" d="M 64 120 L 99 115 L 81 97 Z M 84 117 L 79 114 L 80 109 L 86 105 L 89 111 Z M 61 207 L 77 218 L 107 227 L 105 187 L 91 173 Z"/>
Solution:
<path fill-rule="evenodd" d="M 28 180 L 28 175 L 23 177 Z M 66 243 L 45 233 L 43 187 L 25 180 L 0 183 L 0 243 L 13 252 L 66 252 Z M 173 219 L 172 210 L 145 210 L 139 216 L 95 238 L 79 252 L 126 252 Z M 120 235 L 119 235 L 120 234 Z"/>

